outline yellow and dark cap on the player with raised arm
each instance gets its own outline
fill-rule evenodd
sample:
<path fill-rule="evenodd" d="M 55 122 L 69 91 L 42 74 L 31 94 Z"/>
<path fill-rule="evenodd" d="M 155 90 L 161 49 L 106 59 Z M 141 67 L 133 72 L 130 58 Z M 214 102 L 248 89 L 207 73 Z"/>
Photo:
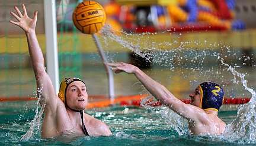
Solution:
<path fill-rule="evenodd" d="M 65 105 L 66 105 L 66 89 L 68 88 L 69 84 L 71 84 L 72 82 L 75 82 L 75 81 L 81 81 L 81 82 L 84 83 L 84 81 L 82 81 L 79 78 L 65 78 L 60 83 L 60 89 L 59 89 L 58 97 L 64 102 Z"/>

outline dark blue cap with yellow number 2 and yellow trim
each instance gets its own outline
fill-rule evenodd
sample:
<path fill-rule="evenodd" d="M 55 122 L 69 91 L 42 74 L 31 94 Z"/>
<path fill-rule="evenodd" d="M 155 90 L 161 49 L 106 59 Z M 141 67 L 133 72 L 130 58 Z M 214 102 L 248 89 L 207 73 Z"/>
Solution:
<path fill-rule="evenodd" d="M 222 87 L 214 82 L 203 82 L 199 85 L 199 88 L 201 91 L 200 108 L 219 111 L 224 99 Z"/>

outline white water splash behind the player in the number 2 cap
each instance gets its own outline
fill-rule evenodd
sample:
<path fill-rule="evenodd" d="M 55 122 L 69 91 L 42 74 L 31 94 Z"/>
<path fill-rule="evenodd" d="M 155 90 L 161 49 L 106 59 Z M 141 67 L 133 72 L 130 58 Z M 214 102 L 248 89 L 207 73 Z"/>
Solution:
<path fill-rule="evenodd" d="M 251 100 L 244 105 L 239 105 L 236 118 L 227 125 L 226 134 L 229 135 L 231 140 L 238 140 L 238 142 L 244 143 L 245 141 L 256 142 L 256 112 L 255 112 L 255 90 L 247 86 L 247 80 L 245 74 L 241 74 L 232 68 L 230 65 L 225 64 L 223 58 L 220 58 L 220 62 L 229 68 L 229 71 L 235 77 L 239 77 L 243 87 L 251 92 Z"/>

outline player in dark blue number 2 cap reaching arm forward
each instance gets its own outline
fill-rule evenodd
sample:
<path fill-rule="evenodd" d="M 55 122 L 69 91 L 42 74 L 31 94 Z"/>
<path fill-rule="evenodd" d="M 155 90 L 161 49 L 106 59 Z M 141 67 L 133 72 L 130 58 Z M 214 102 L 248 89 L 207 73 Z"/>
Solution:
<path fill-rule="evenodd" d="M 134 65 L 123 62 L 108 63 L 107 65 L 116 73 L 134 74 L 156 99 L 188 120 L 188 129 L 191 135 L 219 135 L 225 131 L 225 122 L 217 117 L 217 112 L 222 105 L 224 97 L 224 92 L 220 85 L 214 82 L 203 82 L 189 95 L 191 104 L 185 104 L 168 91 L 167 88 L 154 81 Z"/>

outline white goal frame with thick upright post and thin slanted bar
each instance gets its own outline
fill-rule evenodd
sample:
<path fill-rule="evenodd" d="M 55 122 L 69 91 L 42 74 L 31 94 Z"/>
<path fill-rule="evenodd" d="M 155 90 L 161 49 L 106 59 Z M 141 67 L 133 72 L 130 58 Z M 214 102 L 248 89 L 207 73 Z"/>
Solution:
<path fill-rule="evenodd" d="M 61 16 L 60 16 L 61 18 Z M 53 87 L 55 88 L 56 94 L 59 92 L 59 57 L 57 49 L 57 24 L 56 24 L 56 3 L 55 0 L 44 0 L 44 29 L 46 36 L 46 64 L 47 73 L 52 80 Z M 92 35 L 95 39 L 95 44 L 97 45 L 101 59 L 103 59 L 103 64 L 106 68 L 108 74 L 108 94 L 111 101 L 114 100 L 114 79 L 113 72 L 111 72 L 110 67 L 107 67 L 105 63 L 107 59 L 105 58 L 104 50 L 101 48 L 100 41 L 96 34 Z"/>

